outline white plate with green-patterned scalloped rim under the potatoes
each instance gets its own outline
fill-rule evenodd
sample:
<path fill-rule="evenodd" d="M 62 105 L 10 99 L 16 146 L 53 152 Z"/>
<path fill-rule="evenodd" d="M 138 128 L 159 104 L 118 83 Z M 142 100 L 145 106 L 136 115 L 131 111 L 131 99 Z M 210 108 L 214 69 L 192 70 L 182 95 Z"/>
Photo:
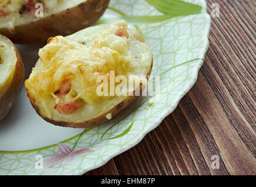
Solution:
<path fill-rule="evenodd" d="M 141 97 L 107 124 L 94 129 L 70 129 L 41 119 L 23 88 L 14 109 L 0 122 L 0 174 L 81 175 L 135 146 L 156 128 L 196 82 L 208 47 L 211 19 L 206 2 L 186 0 L 202 8 L 197 14 L 178 18 L 168 12 L 164 15 L 156 4 L 160 2 L 168 9 L 175 1 L 113 0 L 100 19 L 105 22 L 123 16 L 129 27 L 138 29 L 149 41 L 154 56 L 151 74 L 160 75 L 158 102 Z M 113 19 L 105 19 L 109 17 Z M 16 46 L 28 77 L 42 44 Z"/>

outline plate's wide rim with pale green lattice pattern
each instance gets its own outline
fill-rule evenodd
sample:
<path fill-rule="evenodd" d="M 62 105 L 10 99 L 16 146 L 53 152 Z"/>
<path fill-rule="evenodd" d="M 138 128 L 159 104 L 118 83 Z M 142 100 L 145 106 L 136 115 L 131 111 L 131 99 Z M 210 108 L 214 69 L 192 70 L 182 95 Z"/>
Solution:
<path fill-rule="evenodd" d="M 35 155 L 58 153 L 56 143 L 38 150 L 0 153 L 0 174 L 80 175 L 102 166 L 117 154 L 135 146 L 149 131 L 156 128 L 196 82 L 208 47 L 211 19 L 206 13 L 206 2 L 186 1 L 202 6 L 202 12 L 157 23 L 142 23 L 138 27 L 153 51 L 151 74 L 160 75 L 159 102 L 152 103 L 150 98 L 140 97 L 109 123 L 87 129 L 82 136 L 78 134 L 65 141 L 66 146 L 75 146 L 75 150 L 93 150 L 91 153 L 76 155 L 70 164 L 64 162 L 53 168 L 35 168 Z M 113 0 L 110 7 L 122 10 L 127 16 L 163 15 L 144 0 Z M 110 8 L 106 14 L 113 14 L 113 9 Z"/>

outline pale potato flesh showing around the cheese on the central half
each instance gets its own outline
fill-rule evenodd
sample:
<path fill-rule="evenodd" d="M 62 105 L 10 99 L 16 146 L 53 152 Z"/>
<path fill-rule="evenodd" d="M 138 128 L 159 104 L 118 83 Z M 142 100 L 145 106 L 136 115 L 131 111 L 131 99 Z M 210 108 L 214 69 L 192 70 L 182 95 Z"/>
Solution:
<path fill-rule="evenodd" d="M 108 29 L 114 32 L 120 26 L 126 25 L 127 23 L 124 21 L 112 23 L 110 25 L 102 25 L 96 27 L 89 27 L 84 29 L 78 33 L 72 34 L 66 37 L 68 40 L 77 41 L 82 43 L 83 41 L 90 41 L 97 37 L 97 34 L 105 32 L 109 32 Z M 129 32 L 129 54 L 133 61 L 133 64 L 136 64 L 136 67 L 129 74 L 133 75 L 147 75 L 151 68 L 151 50 L 149 45 L 144 41 L 143 37 L 140 34 L 132 29 L 128 29 Z M 43 70 L 42 61 L 39 60 L 36 63 L 36 66 L 31 74 L 31 77 L 36 75 L 36 73 Z M 73 122 L 79 123 L 88 119 L 92 119 L 93 117 L 100 116 L 101 114 L 107 112 L 109 109 L 113 108 L 113 106 L 122 102 L 126 99 L 126 96 L 115 96 L 108 98 L 100 98 L 98 102 L 94 103 L 94 105 L 89 105 L 88 103 L 83 103 L 83 106 L 73 112 L 70 115 L 61 115 L 58 111 L 54 110 L 55 99 L 49 95 L 47 99 L 43 99 L 36 102 L 36 106 L 39 108 L 40 113 L 43 117 L 48 117 L 49 119 L 53 119 L 56 121 L 65 121 L 65 122 Z"/>

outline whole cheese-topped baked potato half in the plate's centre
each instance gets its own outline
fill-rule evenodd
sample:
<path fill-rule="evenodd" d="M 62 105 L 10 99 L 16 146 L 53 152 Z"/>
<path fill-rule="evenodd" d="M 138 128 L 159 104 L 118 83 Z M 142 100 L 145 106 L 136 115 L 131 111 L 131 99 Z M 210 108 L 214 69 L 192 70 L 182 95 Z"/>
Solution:
<path fill-rule="evenodd" d="M 153 64 L 149 44 L 124 20 L 52 37 L 39 57 L 25 81 L 33 108 L 49 123 L 76 128 L 97 126 L 126 108 Z"/>

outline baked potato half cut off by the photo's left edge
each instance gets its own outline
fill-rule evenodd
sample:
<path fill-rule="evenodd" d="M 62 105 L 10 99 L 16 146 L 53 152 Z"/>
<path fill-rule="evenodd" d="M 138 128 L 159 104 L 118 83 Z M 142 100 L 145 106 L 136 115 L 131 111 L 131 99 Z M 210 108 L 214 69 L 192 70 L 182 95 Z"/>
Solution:
<path fill-rule="evenodd" d="M 19 52 L 0 34 L 0 121 L 11 110 L 24 81 L 24 67 Z"/>

